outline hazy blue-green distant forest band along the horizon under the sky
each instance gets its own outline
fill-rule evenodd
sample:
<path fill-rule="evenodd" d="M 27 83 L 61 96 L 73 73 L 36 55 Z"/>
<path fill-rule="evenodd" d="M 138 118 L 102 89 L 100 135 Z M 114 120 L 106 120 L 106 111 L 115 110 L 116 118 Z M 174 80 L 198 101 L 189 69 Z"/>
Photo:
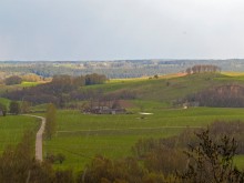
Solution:
<path fill-rule="evenodd" d="M 231 64 L 230 64 L 231 63 Z M 140 78 L 184 72 L 189 67 L 214 64 L 223 71 L 242 71 L 243 60 L 119 60 L 119 61 L 0 61 L 0 80 L 12 74 L 33 73 L 42 78 L 59 74 L 105 74 L 106 78 Z"/>

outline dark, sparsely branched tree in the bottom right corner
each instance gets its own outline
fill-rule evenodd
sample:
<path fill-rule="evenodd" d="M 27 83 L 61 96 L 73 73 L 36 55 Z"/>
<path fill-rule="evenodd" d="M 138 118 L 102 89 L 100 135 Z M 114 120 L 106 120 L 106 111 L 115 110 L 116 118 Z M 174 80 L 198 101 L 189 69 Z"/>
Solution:
<path fill-rule="evenodd" d="M 197 133 L 199 145 L 189 146 L 186 152 L 189 165 L 186 172 L 179 174 L 182 182 L 187 183 L 223 183 L 243 182 L 244 174 L 234 166 L 237 142 L 224 136 L 217 143 L 210 136 L 210 131 Z"/>

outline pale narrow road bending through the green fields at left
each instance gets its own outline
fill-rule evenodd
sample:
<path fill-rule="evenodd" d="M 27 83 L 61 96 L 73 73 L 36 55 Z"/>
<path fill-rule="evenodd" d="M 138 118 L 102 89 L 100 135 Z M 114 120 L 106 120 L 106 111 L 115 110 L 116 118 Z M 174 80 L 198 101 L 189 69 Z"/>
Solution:
<path fill-rule="evenodd" d="M 41 119 L 41 126 L 37 133 L 35 136 L 35 160 L 42 162 L 42 134 L 44 133 L 44 126 L 45 126 L 45 118 L 43 116 L 38 116 L 38 115 L 29 115 L 26 114 L 27 116 L 33 116 L 37 119 Z"/>

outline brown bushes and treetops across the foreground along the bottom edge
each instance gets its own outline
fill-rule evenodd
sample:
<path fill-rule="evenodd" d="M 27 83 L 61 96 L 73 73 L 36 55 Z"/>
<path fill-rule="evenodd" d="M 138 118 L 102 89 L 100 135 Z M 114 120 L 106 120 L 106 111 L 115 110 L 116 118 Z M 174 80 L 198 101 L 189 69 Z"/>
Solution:
<path fill-rule="evenodd" d="M 226 123 L 225 130 L 228 130 L 228 124 Z M 228 135 L 220 135 L 220 140 L 215 141 L 211 138 L 210 130 L 202 129 L 192 133 L 193 139 L 185 136 L 191 145 L 183 149 L 163 145 L 165 141 L 171 141 L 170 138 L 164 139 L 162 144 L 159 140 L 139 142 L 136 146 L 141 148 L 138 150 L 142 151 L 140 156 L 111 160 L 96 155 L 77 173 L 69 169 L 52 169 L 50 163 L 62 163 L 62 154 L 49 155 L 43 163 L 34 161 L 33 133 L 28 132 L 16 148 L 8 148 L 0 156 L 0 179 L 2 182 L 17 183 L 243 182 L 244 172 L 233 164 L 237 142 Z"/>

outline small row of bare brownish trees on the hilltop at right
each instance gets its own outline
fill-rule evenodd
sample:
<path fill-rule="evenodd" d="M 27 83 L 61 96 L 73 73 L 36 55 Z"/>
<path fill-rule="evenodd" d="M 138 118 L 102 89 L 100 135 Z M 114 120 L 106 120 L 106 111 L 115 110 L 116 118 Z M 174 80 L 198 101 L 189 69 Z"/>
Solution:
<path fill-rule="evenodd" d="M 221 68 L 213 64 L 197 64 L 192 68 L 187 68 L 185 70 L 187 74 L 194 74 L 194 73 L 206 73 L 206 72 L 221 72 Z"/>

